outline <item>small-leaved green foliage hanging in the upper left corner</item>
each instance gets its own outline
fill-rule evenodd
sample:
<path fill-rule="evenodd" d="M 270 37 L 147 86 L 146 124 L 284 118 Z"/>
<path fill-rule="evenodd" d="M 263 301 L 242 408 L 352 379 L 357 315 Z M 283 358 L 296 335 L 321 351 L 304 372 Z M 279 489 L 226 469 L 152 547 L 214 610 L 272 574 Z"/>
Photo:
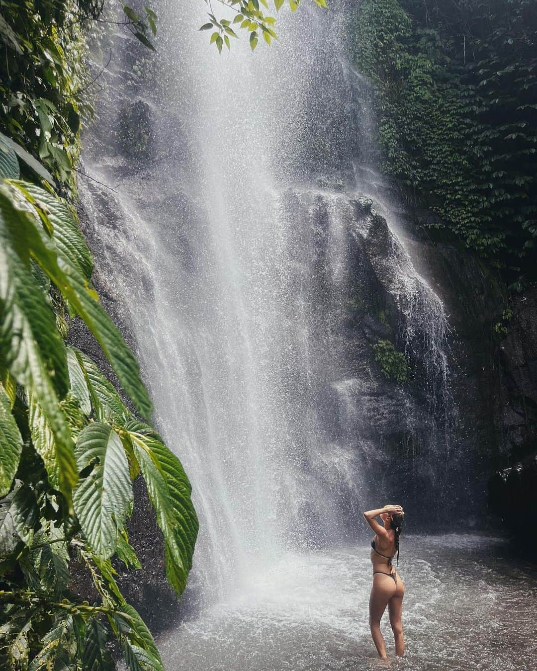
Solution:
<path fill-rule="evenodd" d="M 0 130 L 26 148 L 65 185 L 75 189 L 81 105 L 87 83 L 81 23 L 74 1 L 3 2 Z M 26 176 L 32 172 L 24 167 Z"/>

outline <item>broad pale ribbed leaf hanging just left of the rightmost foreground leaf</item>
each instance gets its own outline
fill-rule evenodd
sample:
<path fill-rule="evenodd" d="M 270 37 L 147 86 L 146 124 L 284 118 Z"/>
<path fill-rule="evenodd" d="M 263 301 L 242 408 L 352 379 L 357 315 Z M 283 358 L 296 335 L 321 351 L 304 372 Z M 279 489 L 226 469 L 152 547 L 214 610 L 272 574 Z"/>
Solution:
<path fill-rule="evenodd" d="M 108 558 L 132 499 L 125 450 L 112 427 L 92 422 L 81 431 L 75 454 L 79 470 L 93 464 L 73 493 L 75 512 L 93 552 Z"/>

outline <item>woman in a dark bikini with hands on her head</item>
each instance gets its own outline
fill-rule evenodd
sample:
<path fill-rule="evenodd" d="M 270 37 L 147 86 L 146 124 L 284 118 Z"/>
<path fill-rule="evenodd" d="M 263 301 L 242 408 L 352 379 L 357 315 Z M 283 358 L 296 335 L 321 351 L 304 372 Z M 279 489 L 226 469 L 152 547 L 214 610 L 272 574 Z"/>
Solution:
<path fill-rule="evenodd" d="M 380 516 L 384 526 L 375 517 Z M 367 523 L 375 531 L 371 541 L 371 562 L 373 563 L 373 588 L 369 597 L 369 626 L 379 657 L 387 659 L 386 646 L 381 633 L 381 619 L 388 607 L 390 624 L 395 638 L 395 654 L 405 652 L 405 638 L 401 624 L 405 586 L 391 560 L 397 555 L 399 561 L 399 536 L 405 513 L 400 505 L 385 505 L 377 510 L 364 513 Z"/>

